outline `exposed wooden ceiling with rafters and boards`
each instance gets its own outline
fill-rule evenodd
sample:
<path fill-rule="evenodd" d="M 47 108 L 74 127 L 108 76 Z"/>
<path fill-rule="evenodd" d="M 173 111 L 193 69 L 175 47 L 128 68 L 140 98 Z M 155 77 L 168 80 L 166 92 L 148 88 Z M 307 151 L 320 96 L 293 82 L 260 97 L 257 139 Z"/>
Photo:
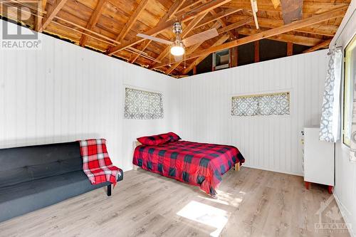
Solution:
<path fill-rule="evenodd" d="M 326 48 L 350 4 L 350 0 L 304 0 L 302 19 L 285 24 L 278 2 L 257 0 L 258 29 L 250 0 L 0 0 L 0 7 L 26 6 L 21 11 L 31 17 L 21 23 L 36 31 L 182 76 L 212 52 L 262 38 L 310 46 L 308 51 Z M 6 17 L 15 16 L 9 11 Z M 219 36 L 187 48 L 185 63 L 173 58 L 169 63 L 169 46 L 136 36 L 145 33 L 172 40 L 175 21 L 182 22 L 183 37 L 210 28 L 216 28 Z"/>

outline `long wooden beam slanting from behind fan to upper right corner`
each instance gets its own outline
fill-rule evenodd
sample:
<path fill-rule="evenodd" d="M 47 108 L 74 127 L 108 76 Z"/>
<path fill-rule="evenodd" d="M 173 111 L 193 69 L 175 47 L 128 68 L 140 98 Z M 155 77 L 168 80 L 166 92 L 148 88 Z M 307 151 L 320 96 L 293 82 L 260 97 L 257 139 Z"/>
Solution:
<path fill-rule="evenodd" d="M 328 21 L 329 19 L 333 19 L 335 17 L 338 17 L 338 16 L 343 16 L 345 14 L 345 11 L 347 10 L 347 7 L 348 6 L 342 6 L 338 9 L 334 9 L 334 10 L 331 10 L 331 11 L 328 11 L 328 12 L 325 12 L 323 14 L 319 14 L 319 15 L 316 15 L 316 16 L 311 16 L 307 19 L 302 19 L 302 20 L 299 20 L 299 21 L 293 21 L 292 23 L 289 23 L 285 26 L 280 26 L 280 27 L 277 27 L 277 28 L 273 28 L 271 30 L 268 30 L 268 31 L 261 31 L 259 33 L 256 33 L 252 36 L 247 36 L 247 37 L 244 37 L 244 38 L 239 38 L 235 41 L 230 41 L 229 43 L 224 43 L 220 46 L 213 46 L 213 47 L 210 47 L 210 48 L 207 48 L 205 50 L 202 50 L 202 51 L 199 51 L 197 53 L 194 53 L 194 56 L 190 56 L 189 58 L 187 59 L 190 59 L 190 58 L 197 58 L 199 56 L 204 56 L 206 54 L 210 54 L 210 53 L 214 53 L 216 51 L 222 51 L 224 49 L 227 49 L 227 48 L 233 48 L 233 47 L 236 47 L 236 46 L 241 46 L 243 44 L 246 44 L 246 43 L 251 43 L 253 41 L 258 41 L 262 38 L 270 38 L 272 36 L 277 36 L 278 34 L 281 34 L 281 33 L 286 33 L 288 31 L 293 31 L 295 30 L 296 28 L 301 28 L 301 27 L 305 27 L 305 26 L 310 26 L 310 25 L 313 25 L 315 23 L 319 23 L 319 22 L 322 22 L 322 21 Z M 167 63 L 159 63 L 158 65 L 155 66 L 155 68 L 160 68 L 164 65 L 167 65 Z"/>

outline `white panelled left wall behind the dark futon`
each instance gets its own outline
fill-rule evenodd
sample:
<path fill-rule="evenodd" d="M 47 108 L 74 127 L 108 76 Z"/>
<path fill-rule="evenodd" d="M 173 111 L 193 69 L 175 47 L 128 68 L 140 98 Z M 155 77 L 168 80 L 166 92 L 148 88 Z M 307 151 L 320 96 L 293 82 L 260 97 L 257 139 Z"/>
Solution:
<path fill-rule="evenodd" d="M 132 169 L 137 136 L 174 130 L 175 83 L 42 35 L 41 50 L 0 53 L 0 147 L 103 137 L 112 162 Z M 164 119 L 124 120 L 125 85 L 163 93 Z"/>

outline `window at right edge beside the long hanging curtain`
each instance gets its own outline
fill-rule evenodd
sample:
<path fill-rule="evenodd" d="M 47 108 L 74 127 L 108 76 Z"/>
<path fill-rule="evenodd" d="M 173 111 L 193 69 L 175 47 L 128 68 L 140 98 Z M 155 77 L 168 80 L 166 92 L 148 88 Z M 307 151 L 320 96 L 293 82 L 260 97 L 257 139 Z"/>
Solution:
<path fill-rule="evenodd" d="M 356 36 L 345 49 L 344 105 L 343 105 L 343 142 L 350 147 L 352 124 L 352 85 L 356 75 Z"/>

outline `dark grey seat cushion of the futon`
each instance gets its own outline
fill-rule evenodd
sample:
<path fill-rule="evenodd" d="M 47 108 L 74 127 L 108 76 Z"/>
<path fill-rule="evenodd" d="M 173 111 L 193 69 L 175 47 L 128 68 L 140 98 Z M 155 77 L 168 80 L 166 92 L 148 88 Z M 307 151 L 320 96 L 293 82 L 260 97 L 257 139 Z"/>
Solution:
<path fill-rule="evenodd" d="M 92 185 L 75 171 L 0 188 L 0 222 L 109 184 Z"/>

